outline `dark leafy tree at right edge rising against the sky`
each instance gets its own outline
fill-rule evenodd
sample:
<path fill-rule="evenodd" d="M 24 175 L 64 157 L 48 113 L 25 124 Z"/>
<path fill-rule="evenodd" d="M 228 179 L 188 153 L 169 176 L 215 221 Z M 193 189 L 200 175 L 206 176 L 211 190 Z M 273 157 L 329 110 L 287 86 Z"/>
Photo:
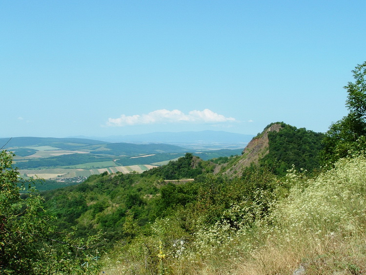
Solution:
<path fill-rule="evenodd" d="M 334 163 L 366 148 L 366 62 L 358 64 L 352 73 L 355 82 L 344 87 L 349 113 L 325 133 L 321 154 L 324 163 Z"/>

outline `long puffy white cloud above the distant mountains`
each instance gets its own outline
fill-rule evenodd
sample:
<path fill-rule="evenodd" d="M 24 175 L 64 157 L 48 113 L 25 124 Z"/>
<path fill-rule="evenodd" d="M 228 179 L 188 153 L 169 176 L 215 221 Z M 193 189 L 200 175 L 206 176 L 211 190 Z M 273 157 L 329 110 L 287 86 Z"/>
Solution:
<path fill-rule="evenodd" d="M 158 123 L 222 123 L 235 122 L 235 118 L 225 117 L 215 113 L 209 109 L 203 111 L 193 110 L 188 114 L 184 114 L 180 110 L 155 110 L 148 114 L 126 116 L 121 115 L 119 118 L 108 118 L 107 126 L 132 126 L 141 124 L 158 124 Z"/>

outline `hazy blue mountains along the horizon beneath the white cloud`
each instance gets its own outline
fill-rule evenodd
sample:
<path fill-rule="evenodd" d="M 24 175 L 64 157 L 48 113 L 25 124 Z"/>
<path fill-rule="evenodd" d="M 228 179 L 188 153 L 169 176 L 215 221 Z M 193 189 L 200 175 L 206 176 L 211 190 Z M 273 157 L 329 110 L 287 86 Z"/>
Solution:
<path fill-rule="evenodd" d="M 0 148 L 20 148 L 35 146 L 51 146 L 61 149 L 85 148 L 93 145 L 104 144 L 106 148 L 131 148 L 137 152 L 145 151 L 142 145 L 159 144 L 165 145 L 163 151 L 182 151 L 185 149 L 244 149 L 246 144 L 253 138 L 253 135 L 230 133 L 225 131 L 186 131 L 186 132 L 154 132 L 137 135 L 121 135 L 109 137 L 87 137 L 76 136 L 67 138 L 50 137 L 13 137 L 0 138 Z M 116 144 L 118 143 L 118 145 Z M 108 145 L 109 144 L 109 145 Z M 136 146 L 139 145 L 139 146 Z M 167 147 L 169 145 L 170 147 Z M 176 147 L 173 147 L 176 146 Z M 179 148 L 178 148 L 179 147 Z M 182 148 L 183 147 L 183 148 Z M 109 148 L 109 149 L 111 149 Z M 139 148 L 139 149 L 138 149 Z M 159 150 L 158 148 L 149 149 Z"/>

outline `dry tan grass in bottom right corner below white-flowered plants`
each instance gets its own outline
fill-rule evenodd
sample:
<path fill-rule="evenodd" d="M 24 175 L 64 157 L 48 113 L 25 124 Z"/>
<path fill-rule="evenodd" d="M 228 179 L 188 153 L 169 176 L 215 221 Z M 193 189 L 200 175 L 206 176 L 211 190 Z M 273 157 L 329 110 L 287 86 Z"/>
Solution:
<path fill-rule="evenodd" d="M 365 240 L 365 234 L 361 234 L 349 238 L 330 235 L 322 239 L 303 235 L 299 242 L 284 244 L 268 241 L 231 274 L 285 275 L 292 274 L 300 265 L 305 267 L 307 275 L 365 274 Z"/>

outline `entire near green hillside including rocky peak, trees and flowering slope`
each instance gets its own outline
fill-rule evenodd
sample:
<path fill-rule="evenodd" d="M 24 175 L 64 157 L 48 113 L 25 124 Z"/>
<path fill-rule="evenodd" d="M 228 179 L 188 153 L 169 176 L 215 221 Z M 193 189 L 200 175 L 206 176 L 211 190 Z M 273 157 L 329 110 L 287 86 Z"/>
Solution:
<path fill-rule="evenodd" d="M 20 196 L 32 182 L 2 151 L 1 273 L 365 274 L 366 63 L 353 72 L 325 134 L 273 123 L 241 156 Z"/>

